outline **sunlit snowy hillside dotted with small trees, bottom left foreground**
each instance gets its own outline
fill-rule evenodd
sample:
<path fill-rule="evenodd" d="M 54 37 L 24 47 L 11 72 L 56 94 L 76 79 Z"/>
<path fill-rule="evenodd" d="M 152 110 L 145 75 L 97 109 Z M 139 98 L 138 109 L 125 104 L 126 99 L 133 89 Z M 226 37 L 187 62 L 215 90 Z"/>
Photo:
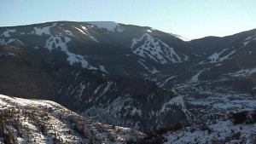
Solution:
<path fill-rule="evenodd" d="M 145 135 L 97 123 L 53 101 L 0 95 L 0 143 L 125 143 Z"/>

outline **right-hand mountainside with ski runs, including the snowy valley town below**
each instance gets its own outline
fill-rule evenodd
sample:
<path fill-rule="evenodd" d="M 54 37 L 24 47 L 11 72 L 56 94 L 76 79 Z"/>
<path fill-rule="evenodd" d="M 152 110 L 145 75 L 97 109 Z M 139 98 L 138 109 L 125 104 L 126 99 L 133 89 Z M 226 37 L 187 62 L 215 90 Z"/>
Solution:
<path fill-rule="evenodd" d="M 206 53 L 191 63 L 172 66 L 150 79 L 161 88 L 172 89 L 180 95 L 185 112 L 196 119 L 194 124 L 222 118 L 230 110 L 254 110 L 255 33 L 254 29 L 229 36 L 223 49 Z"/>

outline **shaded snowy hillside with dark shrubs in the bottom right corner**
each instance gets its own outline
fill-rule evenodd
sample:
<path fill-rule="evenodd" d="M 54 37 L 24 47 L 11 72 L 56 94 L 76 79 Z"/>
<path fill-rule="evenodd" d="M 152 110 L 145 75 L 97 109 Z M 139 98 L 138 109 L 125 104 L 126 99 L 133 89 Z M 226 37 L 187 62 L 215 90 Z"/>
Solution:
<path fill-rule="evenodd" d="M 207 123 L 169 131 L 166 144 L 179 143 L 256 143 L 256 111 L 236 112 L 229 119 L 209 120 Z"/>

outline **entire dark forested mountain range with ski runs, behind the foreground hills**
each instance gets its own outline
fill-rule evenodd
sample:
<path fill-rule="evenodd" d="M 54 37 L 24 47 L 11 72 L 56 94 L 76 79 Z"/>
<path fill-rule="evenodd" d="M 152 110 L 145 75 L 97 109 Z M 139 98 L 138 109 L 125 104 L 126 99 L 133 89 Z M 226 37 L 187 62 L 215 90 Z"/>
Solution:
<path fill-rule="evenodd" d="M 143 131 L 196 125 L 255 109 L 255 33 L 188 43 L 112 21 L 0 27 L 0 93 Z"/>

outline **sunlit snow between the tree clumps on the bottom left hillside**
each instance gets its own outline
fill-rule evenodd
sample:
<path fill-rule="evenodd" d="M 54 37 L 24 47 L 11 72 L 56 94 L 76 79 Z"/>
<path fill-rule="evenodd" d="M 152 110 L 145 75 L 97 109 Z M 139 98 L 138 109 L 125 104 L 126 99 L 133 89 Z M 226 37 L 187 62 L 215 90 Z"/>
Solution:
<path fill-rule="evenodd" d="M 25 135 L 23 137 L 17 135 L 17 128 L 14 126 L 16 119 L 12 119 L 11 123 L 6 124 L 10 130 L 14 131 L 18 143 L 53 144 L 54 135 L 58 135 L 58 138 L 62 139 L 63 143 L 81 143 L 81 141 L 89 143 L 92 134 L 96 136 L 96 143 L 112 143 L 109 135 L 116 137 L 115 143 L 125 143 L 125 141 L 137 140 L 145 136 L 136 130 L 119 126 L 113 128 L 111 125 L 83 118 L 53 101 L 27 100 L 0 95 L 0 110 L 8 110 L 10 107 L 14 108 L 15 115 L 18 116 L 21 123 L 21 130 Z M 28 115 L 24 113 L 28 113 Z M 79 135 L 73 129 L 73 124 L 69 122 L 70 118 L 82 122 L 88 135 L 85 137 Z M 43 124 L 43 122 L 48 127 L 45 135 L 42 134 L 40 124 L 38 124 Z M 0 143 L 2 142 L 3 136 L 0 135 Z"/>

